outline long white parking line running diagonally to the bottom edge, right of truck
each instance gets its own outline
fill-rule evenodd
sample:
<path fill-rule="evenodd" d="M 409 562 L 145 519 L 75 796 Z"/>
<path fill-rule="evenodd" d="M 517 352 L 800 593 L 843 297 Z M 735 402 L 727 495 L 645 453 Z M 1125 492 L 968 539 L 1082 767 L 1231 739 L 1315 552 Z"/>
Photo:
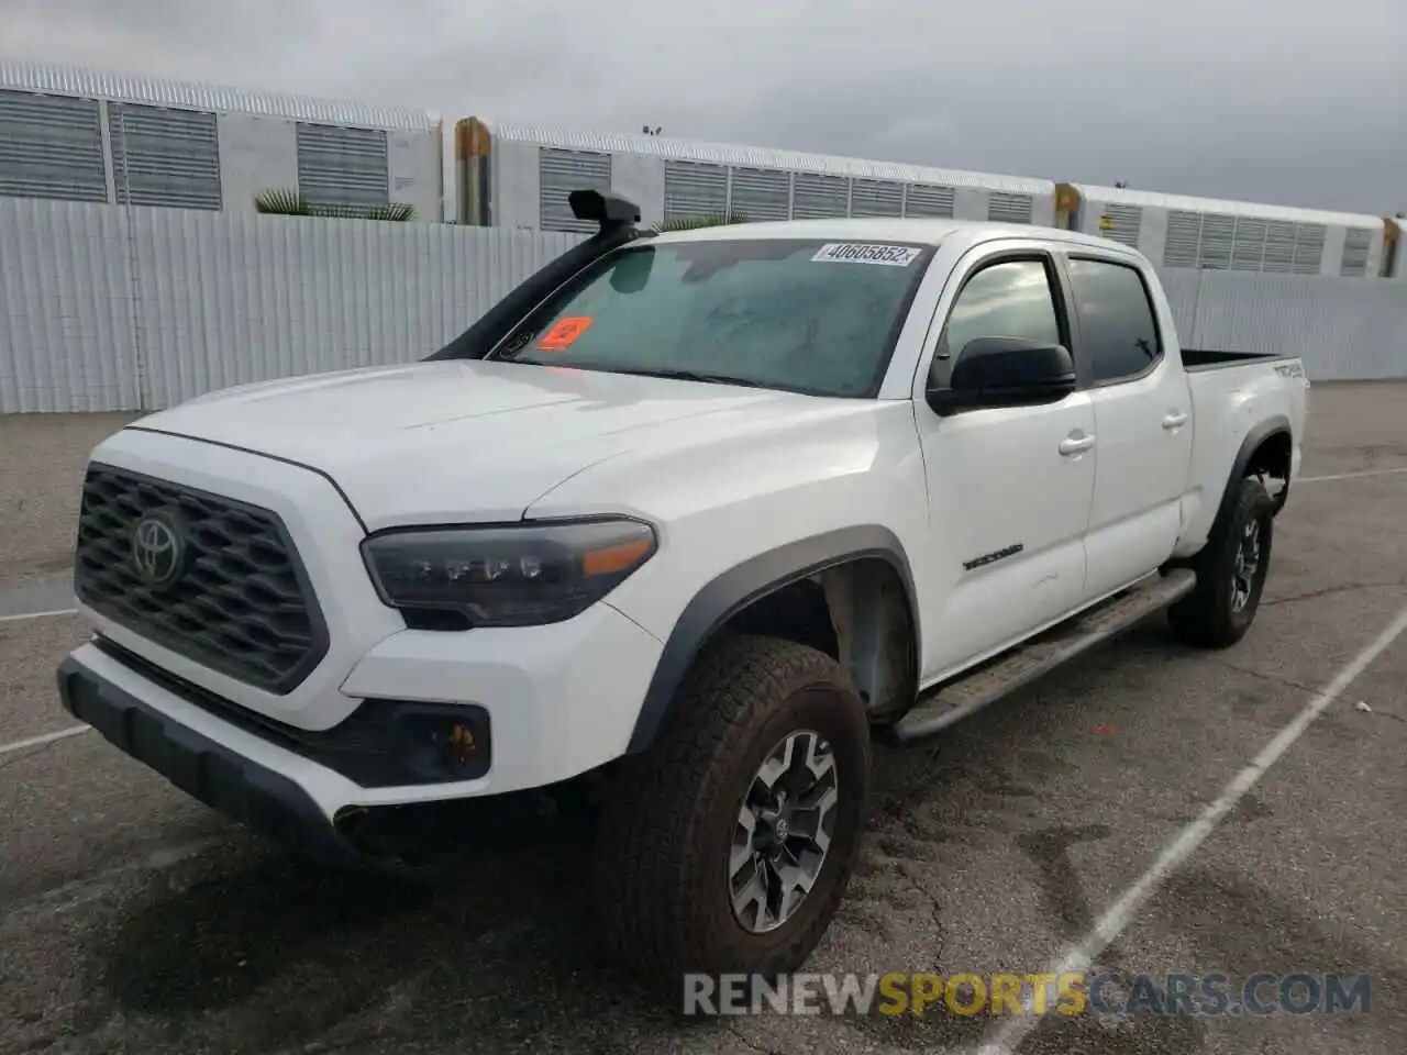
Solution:
<path fill-rule="evenodd" d="M 1241 772 L 1235 775 L 1235 779 L 1227 785 L 1225 791 L 1221 792 L 1221 798 L 1213 802 L 1203 810 L 1202 816 L 1195 821 L 1188 824 L 1178 837 L 1169 843 L 1158 858 L 1152 862 L 1147 872 L 1144 872 L 1133 886 L 1130 886 L 1119 897 L 1113 906 L 1099 917 L 1093 930 L 1085 935 L 1085 938 L 1069 948 L 1064 957 L 1061 957 L 1055 964 L 1052 964 L 1047 971 L 1048 973 L 1059 978 L 1061 975 L 1085 973 L 1089 971 L 1090 965 L 1104 948 L 1109 947 L 1114 938 L 1117 938 L 1133 921 L 1138 910 L 1147 904 L 1148 899 L 1157 893 L 1162 882 L 1172 875 L 1189 857 L 1192 857 L 1197 848 L 1206 843 L 1207 836 L 1210 836 L 1217 824 L 1225 820 L 1225 816 L 1235 809 L 1237 803 L 1245 796 L 1255 782 L 1265 775 L 1266 769 L 1275 765 L 1280 757 L 1290 750 L 1296 740 L 1299 740 L 1304 730 L 1317 719 L 1330 703 L 1332 703 L 1342 692 L 1354 684 L 1368 665 L 1382 656 L 1387 647 L 1401 636 L 1403 630 L 1407 630 L 1407 608 L 1397 613 L 1397 618 L 1389 623 L 1377 637 L 1373 639 L 1363 651 L 1354 657 L 1352 661 L 1338 675 L 1331 681 L 1323 692 L 1320 692 L 1314 699 L 1311 699 L 1290 724 L 1285 726 L 1275 738 L 1262 748 L 1249 765 L 1247 765 Z M 996 1027 L 991 1040 L 978 1048 L 978 1055 L 1012 1055 L 1027 1034 L 1040 1025 L 1040 1016 L 1033 1014 L 1034 995 L 1021 996 L 1021 1004 L 1026 1009 L 1026 1014 L 1014 1016 L 1007 1018 L 1002 1025 Z"/>

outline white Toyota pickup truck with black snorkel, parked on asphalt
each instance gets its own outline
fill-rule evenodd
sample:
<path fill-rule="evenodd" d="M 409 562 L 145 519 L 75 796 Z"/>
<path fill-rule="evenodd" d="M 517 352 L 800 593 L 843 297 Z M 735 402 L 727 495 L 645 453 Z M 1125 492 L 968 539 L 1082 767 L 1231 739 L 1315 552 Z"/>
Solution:
<path fill-rule="evenodd" d="M 65 706 L 253 829 L 604 789 L 642 978 L 796 969 L 903 744 L 1158 609 L 1255 616 L 1294 359 L 1180 349 L 1148 260 L 950 219 L 599 234 L 426 362 L 93 453 Z M 464 840 L 473 833 L 463 833 Z M 374 844 L 374 845 L 373 845 Z"/>

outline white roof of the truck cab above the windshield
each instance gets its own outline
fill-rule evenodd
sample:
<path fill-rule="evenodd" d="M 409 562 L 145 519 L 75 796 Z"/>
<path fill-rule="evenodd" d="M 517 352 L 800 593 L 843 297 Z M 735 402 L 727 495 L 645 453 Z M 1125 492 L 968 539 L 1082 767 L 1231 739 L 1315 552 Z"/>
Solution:
<path fill-rule="evenodd" d="M 968 245 L 979 245 L 995 238 L 1038 238 L 1110 252 L 1133 252 L 1120 242 L 1079 231 L 1036 226 L 1031 224 L 1000 224 L 986 219 L 929 219 L 868 217 L 851 219 L 782 219 L 743 224 L 720 224 L 692 231 L 666 231 L 654 235 L 656 242 L 715 242 L 725 239 L 763 238 L 834 238 L 847 242 L 917 242 L 940 245 L 961 238 Z"/>

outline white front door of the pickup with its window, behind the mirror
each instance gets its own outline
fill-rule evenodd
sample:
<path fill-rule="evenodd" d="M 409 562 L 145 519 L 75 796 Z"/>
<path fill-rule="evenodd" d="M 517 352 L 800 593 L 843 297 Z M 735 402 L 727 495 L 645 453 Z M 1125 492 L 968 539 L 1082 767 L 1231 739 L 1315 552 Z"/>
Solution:
<path fill-rule="evenodd" d="M 967 342 L 1069 346 L 1054 262 L 1041 252 L 969 266 L 936 347 L 937 380 Z M 1078 608 L 1095 492 L 1089 392 L 1061 402 L 937 415 L 915 399 L 929 481 L 934 574 L 923 620 L 924 682 L 948 677 Z"/>

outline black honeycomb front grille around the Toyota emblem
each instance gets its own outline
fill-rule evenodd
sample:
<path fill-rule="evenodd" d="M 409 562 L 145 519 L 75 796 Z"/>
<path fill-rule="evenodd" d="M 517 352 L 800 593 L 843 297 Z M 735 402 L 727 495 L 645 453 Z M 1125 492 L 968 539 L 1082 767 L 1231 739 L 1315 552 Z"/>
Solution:
<path fill-rule="evenodd" d="M 166 529 L 138 560 L 138 525 Z M 267 509 L 93 463 L 83 481 L 75 592 L 94 610 L 210 670 L 279 695 L 328 650 L 283 522 Z"/>

